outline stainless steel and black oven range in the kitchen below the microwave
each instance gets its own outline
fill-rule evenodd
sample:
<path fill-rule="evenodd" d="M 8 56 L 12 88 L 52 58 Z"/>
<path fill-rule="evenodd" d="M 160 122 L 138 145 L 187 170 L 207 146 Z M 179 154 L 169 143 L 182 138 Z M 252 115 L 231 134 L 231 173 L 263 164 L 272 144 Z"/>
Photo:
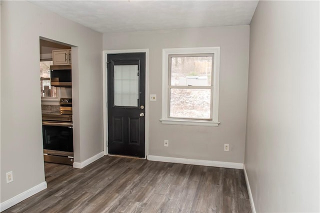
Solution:
<path fill-rule="evenodd" d="M 60 110 L 42 113 L 44 161 L 73 163 L 72 100 L 60 99 Z"/>

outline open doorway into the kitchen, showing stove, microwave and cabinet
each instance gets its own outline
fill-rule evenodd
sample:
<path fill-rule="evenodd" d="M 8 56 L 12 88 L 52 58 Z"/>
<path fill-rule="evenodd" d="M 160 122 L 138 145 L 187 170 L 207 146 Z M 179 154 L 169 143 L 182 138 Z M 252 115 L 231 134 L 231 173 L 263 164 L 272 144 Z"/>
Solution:
<path fill-rule="evenodd" d="M 39 84 L 46 181 L 60 175 L 51 173 L 56 170 L 53 168 L 59 166 L 63 172 L 72 169 L 73 164 L 71 48 L 77 50 L 73 45 L 39 37 Z M 77 52 L 74 53 L 74 61 L 77 61 Z M 62 59 L 65 59 L 64 64 L 59 64 Z"/>

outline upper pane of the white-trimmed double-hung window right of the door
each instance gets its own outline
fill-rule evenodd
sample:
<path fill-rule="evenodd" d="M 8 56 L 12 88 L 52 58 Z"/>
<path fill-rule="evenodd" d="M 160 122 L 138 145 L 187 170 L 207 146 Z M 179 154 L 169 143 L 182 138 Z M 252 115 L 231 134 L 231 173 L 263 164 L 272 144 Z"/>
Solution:
<path fill-rule="evenodd" d="M 212 56 L 171 57 L 171 85 L 211 85 Z"/>

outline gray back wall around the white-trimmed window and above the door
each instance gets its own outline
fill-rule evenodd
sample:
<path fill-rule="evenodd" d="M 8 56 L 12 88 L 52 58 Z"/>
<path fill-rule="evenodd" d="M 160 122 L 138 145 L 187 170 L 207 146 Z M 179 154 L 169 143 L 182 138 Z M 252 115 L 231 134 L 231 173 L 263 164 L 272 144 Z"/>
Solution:
<path fill-rule="evenodd" d="M 161 124 L 162 48 L 220 46 L 218 127 Z M 243 163 L 249 26 L 103 34 L 103 50 L 149 49 L 149 155 Z M 148 100 L 148 97 L 146 98 Z M 163 146 L 163 140 L 169 146 Z M 223 151 L 223 143 L 230 151 Z"/>

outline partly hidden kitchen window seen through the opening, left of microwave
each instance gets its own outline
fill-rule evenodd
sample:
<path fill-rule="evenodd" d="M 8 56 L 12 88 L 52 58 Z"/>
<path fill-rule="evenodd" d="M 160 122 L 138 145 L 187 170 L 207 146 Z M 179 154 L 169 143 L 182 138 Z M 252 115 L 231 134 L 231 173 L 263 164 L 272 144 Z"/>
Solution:
<path fill-rule="evenodd" d="M 40 61 L 40 93 L 41 98 L 57 99 L 57 92 L 50 81 L 50 65 L 52 60 Z"/>

